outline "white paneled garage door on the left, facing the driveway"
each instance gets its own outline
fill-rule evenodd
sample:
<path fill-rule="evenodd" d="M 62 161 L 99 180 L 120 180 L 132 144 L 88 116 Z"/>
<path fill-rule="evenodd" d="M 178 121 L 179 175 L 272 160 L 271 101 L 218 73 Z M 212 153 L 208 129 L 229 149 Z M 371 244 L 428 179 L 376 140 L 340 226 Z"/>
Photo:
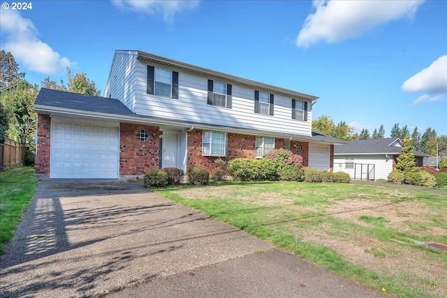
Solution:
<path fill-rule="evenodd" d="M 118 178 L 119 127 L 52 120 L 50 140 L 50 178 Z"/>

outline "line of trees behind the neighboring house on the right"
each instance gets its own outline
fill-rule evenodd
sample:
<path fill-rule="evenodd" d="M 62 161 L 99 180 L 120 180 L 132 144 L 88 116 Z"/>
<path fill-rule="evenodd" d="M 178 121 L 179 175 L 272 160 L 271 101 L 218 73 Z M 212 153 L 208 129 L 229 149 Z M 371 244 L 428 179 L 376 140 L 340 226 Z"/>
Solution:
<path fill-rule="evenodd" d="M 438 136 L 436 130 L 428 127 L 425 132 L 421 133 L 416 126 L 412 132 L 409 131 L 408 126 L 400 127 L 399 123 L 393 125 L 389 136 L 386 136 L 385 127 L 381 125 L 379 129 L 375 128 L 372 134 L 368 129 L 362 129 L 359 133 L 354 133 L 353 127 L 350 127 L 346 122 L 341 121 L 337 125 L 328 115 L 321 115 L 316 120 L 312 121 L 312 130 L 333 136 L 344 141 L 352 140 L 368 140 L 368 139 L 385 139 L 385 138 L 400 138 L 401 140 L 410 139 L 414 150 L 425 152 L 429 155 L 437 155 L 437 146 L 440 156 L 447 156 L 447 136 Z"/>

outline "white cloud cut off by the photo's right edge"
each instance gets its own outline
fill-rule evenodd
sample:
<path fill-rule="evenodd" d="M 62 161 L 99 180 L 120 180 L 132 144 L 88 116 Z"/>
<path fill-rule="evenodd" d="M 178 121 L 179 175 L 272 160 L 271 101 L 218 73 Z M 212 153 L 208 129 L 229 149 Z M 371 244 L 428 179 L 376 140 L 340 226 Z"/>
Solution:
<path fill-rule="evenodd" d="M 447 55 L 439 57 L 430 66 L 419 71 L 402 85 L 404 92 L 447 92 Z"/>

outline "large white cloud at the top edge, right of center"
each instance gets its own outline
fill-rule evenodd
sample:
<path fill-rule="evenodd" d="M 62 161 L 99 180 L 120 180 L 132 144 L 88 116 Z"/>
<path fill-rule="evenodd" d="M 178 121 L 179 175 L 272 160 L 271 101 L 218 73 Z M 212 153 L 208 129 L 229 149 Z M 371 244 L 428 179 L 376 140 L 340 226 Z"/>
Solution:
<path fill-rule="evenodd" d="M 335 43 L 360 36 L 391 20 L 413 17 L 423 1 L 314 0 L 316 11 L 307 16 L 296 44 L 309 48 L 319 41 Z"/>

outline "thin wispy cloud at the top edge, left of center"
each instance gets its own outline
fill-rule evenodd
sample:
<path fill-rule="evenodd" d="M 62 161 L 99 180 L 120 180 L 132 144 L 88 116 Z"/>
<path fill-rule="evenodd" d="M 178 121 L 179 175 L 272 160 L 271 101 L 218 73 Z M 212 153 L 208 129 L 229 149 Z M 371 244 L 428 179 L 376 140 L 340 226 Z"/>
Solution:
<path fill-rule="evenodd" d="M 163 15 L 163 20 L 173 22 L 177 13 L 198 6 L 199 0 L 112 0 L 115 6 L 149 15 Z"/>

